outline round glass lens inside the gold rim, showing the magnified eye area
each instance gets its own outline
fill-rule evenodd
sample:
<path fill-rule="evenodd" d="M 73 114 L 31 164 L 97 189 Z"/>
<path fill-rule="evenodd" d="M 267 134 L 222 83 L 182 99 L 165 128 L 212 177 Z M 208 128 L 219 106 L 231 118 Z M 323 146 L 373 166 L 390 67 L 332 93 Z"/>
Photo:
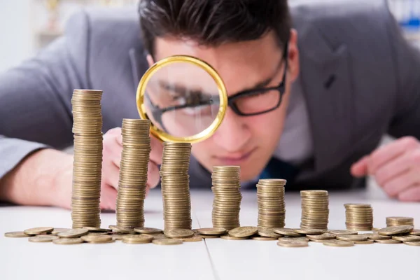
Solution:
<path fill-rule="evenodd" d="M 216 120 L 220 109 L 218 85 L 200 66 L 174 62 L 148 79 L 144 109 L 153 125 L 174 137 L 193 137 Z"/>

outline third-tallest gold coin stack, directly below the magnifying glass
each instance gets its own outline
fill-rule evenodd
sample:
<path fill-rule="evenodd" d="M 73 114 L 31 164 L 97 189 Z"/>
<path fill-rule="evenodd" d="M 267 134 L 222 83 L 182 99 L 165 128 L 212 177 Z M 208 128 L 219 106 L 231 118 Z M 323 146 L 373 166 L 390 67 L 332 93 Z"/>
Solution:
<path fill-rule="evenodd" d="M 191 144 L 163 144 L 160 178 L 165 230 L 191 229 L 190 166 Z"/>

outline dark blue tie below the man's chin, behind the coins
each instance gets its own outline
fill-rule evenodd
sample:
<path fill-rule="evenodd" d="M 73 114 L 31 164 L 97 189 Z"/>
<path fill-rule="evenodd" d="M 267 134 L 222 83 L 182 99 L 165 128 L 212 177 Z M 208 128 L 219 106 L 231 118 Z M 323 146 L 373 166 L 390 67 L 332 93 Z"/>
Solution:
<path fill-rule="evenodd" d="M 271 158 L 264 170 L 260 174 L 260 179 L 285 179 L 287 183 L 293 183 L 299 169 L 283 162 L 277 158 Z"/>

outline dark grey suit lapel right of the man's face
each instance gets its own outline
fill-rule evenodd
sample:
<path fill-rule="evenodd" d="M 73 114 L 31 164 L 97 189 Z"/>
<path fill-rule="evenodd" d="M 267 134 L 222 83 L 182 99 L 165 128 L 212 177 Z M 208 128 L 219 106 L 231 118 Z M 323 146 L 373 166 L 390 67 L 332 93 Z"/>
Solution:
<path fill-rule="evenodd" d="M 351 153 L 354 99 L 346 45 L 332 48 L 315 28 L 300 34 L 300 80 L 314 140 L 316 173 Z"/>

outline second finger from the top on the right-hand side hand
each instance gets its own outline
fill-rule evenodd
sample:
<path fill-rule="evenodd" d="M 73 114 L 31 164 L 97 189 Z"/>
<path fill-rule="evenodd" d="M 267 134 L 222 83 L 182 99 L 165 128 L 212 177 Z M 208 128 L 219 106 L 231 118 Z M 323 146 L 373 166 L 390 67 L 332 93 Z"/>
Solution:
<path fill-rule="evenodd" d="M 388 181 L 407 172 L 413 166 L 413 153 L 408 152 L 382 165 L 373 175 L 379 186 L 385 186 Z"/>

